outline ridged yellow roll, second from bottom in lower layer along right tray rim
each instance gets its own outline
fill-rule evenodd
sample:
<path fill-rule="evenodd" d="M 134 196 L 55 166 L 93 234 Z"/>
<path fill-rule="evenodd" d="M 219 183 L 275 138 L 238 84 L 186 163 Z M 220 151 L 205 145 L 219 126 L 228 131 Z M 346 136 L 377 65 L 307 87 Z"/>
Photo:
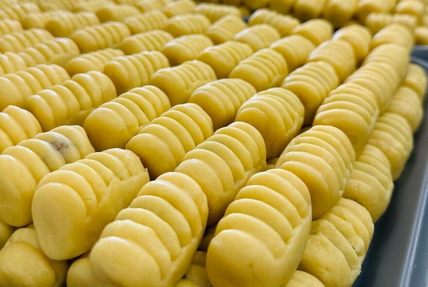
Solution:
<path fill-rule="evenodd" d="M 375 222 L 388 207 L 393 187 L 388 158 L 380 149 L 367 144 L 355 162 L 343 197 L 364 206 Z"/>

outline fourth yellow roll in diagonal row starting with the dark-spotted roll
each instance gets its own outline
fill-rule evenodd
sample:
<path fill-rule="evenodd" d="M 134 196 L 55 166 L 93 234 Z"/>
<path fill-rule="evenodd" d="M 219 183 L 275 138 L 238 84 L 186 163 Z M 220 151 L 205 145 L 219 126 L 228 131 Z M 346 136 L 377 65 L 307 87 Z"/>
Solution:
<path fill-rule="evenodd" d="M 251 54 L 248 44 L 232 40 L 204 49 L 197 59 L 210 65 L 217 78 L 221 79 L 228 77 L 233 68 Z"/>

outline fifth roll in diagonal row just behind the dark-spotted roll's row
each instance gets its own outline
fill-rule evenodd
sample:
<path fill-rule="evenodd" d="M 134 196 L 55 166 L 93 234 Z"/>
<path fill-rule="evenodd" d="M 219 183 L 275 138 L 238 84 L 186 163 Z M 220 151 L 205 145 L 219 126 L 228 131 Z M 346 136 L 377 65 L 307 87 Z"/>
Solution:
<path fill-rule="evenodd" d="M 237 33 L 246 27 L 247 24 L 241 17 L 228 15 L 212 24 L 205 34 L 217 45 L 232 40 Z"/>

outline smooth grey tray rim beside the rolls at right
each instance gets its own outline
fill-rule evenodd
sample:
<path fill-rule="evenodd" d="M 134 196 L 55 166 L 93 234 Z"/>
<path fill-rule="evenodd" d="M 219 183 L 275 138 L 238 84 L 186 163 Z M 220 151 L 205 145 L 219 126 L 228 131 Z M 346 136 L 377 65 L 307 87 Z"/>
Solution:
<path fill-rule="evenodd" d="M 428 49 L 416 49 L 412 62 L 428 73 Z M 424 104 L 428 114 L 428 101 Z M 375 233 L 353 287 L 428 287 L 428 116 L 414 135 L 414 149 L 395 181 L 386 213 Z"/>

